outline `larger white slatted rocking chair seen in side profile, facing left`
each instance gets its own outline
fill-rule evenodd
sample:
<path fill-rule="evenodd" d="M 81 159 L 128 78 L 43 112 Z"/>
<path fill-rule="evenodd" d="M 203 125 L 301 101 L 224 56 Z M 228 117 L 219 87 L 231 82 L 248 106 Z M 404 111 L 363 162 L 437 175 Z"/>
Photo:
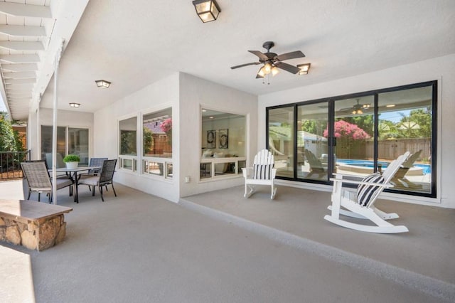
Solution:
<path fill-rule="evenodd" d="M 409 231 L 405 225 L 392 225 L 386 221 L 399 218 L 396 213 L 385 213 L 373 205 L 384 188 L 392 187 L 390 180 L 409 155 L 410 152 L 407 151 L 392 161 L 382 175 L 370 174 L 362 181 L 346 180 L 343 179 L 343 176 L 346 175 L 335 174 L 336 178 L 331 178 L 333 181 L 332 205 L 328 206 L 331 215 L 326 215 L 324 219 L 346 228 L 368 233 L 405 233 Z M 344 190 L 343 183 L 358 184 L 357 192 Z M 375 225 L 348 222 L 341 219 L 340 215 L 368 219 Z"/>

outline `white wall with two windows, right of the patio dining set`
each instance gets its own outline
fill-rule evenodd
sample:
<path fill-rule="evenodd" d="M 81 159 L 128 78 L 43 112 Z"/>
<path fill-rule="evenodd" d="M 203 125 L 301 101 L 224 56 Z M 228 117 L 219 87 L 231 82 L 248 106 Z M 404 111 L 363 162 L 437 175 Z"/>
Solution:
<path fill-rule="evenodd" d="M 173 119 L 173 179 L 163 179 L 159 176 L 144 176 L 139 171 L 117 169 L 114 181 L 137 188 L 140 191 L 177 202 L 178 190 L 178 159 L 180 148 L 178 144 L 179 105 L 178 105 L 178 73 L 152 83 L 127 97 L 117 100 L 112 105 L 95 112 L 94 122 L 94 155 L 107 156 L 116 159 L 118 156 L 118 124 L 119 120 L 129 117 L 141 117 L 146 113 L 172 107 Z M 138 136 L 139 129 L 138 126 Z M 139 138 L 138 138 L 139 140 Z M 141 152 L 138 152 L 138 165 L 141 162 Z"/>

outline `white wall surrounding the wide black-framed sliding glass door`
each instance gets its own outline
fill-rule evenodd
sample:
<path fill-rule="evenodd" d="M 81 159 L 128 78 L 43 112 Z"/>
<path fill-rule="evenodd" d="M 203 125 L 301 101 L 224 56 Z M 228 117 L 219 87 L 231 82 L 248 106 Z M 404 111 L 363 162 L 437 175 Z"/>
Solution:
<path fill-rule="evenodd" d="M 380 60 L 380 59 L 378 59 Z M 311 73 L 311 71 L 310 71 Z M 387 87 L 422 83 L 438 80 L 438 188 L 437 198 L 420 198 L 405 195 L 384 193 L 398 201 L 437 205 L 455 208 L 455 196 L 451 192 L 455 181 L 455 54 L 424 60 L 408 65 L 401 65 L 374 73 L 343 78 L 317 85 L 308 85 L 292 90 L 274 92 L 258 97 L 257 131 L 262 134 L 265 129 L 265 109 L 273 105 L 316 100 L 354 92 L 364 92 Z M 258 137 L 258 146 L 264 146 L 265 137 Z M 291 186 L 311 186 L 301 182 L 289 182 Z M 313 186 L 317 188 L 318 186 Z M 322 190 L 329 186 L 319 186 Z"/>

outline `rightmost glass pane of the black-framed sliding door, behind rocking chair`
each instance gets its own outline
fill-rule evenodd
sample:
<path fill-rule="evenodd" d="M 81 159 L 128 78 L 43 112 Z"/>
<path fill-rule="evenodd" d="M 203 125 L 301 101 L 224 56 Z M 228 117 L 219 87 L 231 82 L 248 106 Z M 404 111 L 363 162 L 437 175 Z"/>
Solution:
<path fill-rule="evenodd" d="M 378 95 L 378 162 L 411 156 L 392 179 L 395 189 L 432 192 L 432 86 Z"/>

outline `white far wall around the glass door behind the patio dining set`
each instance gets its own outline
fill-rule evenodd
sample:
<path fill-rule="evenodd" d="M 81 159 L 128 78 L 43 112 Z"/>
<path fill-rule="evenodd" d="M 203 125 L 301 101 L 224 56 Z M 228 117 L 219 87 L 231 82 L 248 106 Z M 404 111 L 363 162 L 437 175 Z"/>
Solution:
<path fill-rule="evenodd" d="M 41 125 L 53 125 L 53 110 L 40 108 L 38 112 L 32 112 L 28 117 L 27 137 L 28 149 L 31 150 L 31 159 L 41 159 L 40 138 Z M 87 128 L 89 132 L 89 157 L 93 154 L 93 114 L 90 112 L 76 112 L 70 110 L 58 110 L 57 126 Z"/>

